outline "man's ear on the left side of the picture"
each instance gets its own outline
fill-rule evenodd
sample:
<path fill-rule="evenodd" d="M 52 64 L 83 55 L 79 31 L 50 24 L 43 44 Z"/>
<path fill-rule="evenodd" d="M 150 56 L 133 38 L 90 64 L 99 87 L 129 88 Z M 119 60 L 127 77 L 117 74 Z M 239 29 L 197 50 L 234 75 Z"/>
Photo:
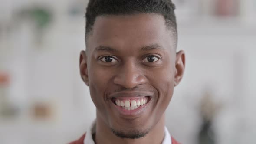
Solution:
<path fill-rule="evenodd" d="M 85 82 L 85 84 L 89 86 L 87 56 L 84 50 L 80 52 L 79 63 L 81 78 Z"/>

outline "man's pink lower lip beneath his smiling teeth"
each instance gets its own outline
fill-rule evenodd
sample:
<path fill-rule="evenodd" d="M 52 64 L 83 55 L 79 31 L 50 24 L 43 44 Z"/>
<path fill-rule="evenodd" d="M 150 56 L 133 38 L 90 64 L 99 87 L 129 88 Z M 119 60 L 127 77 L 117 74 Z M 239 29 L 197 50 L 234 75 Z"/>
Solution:
<path fill-rule="evenodd" d="M 150 101 L 148 101 L 148 103 L 146 103 L 145 105 L 139 106 L 138 108 L 136 108 L 134 110 L 126 110 L 125 108 L 122 108 L 121 106 L 115 105 L 113 102 L 111 102 L 111 103 L 112 103 L 112 105 L 115 106 L 115 108 L 117 108 L 117 110 L 121 113 L 121 115 L 136 116 L 136 115 L 140 115 L 143 111 L 146 110 Z"/>

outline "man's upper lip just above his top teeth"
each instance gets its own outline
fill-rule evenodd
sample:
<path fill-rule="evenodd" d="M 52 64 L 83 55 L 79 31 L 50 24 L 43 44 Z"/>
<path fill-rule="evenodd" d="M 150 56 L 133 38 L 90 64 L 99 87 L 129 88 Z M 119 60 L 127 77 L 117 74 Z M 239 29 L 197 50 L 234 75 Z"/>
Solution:
<path fill-rule="evenodd" d="M 118 98 L 118 97 L 145 97 L 145 96 L 152 96 L 152 93 L 149 92 L 116 92 L 110 95 L 110 98 Z"/>

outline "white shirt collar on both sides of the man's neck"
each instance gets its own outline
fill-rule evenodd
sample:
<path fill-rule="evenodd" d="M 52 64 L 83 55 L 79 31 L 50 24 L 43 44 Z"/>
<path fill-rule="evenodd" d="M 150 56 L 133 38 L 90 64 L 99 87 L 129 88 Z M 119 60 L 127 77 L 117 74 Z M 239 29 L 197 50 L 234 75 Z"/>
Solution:
<path fill-rule="evenodd" d="M 93 121 L 89 130 L 86 132 L 84 144 L 95 144 L 92 138 L 92 134 L 94 134 L 95 131 L 96 131 L 96 121 Z M 171 135 L 166 127 L 164 128 L 164 141 L 162 144 L 172 144 Z"/>

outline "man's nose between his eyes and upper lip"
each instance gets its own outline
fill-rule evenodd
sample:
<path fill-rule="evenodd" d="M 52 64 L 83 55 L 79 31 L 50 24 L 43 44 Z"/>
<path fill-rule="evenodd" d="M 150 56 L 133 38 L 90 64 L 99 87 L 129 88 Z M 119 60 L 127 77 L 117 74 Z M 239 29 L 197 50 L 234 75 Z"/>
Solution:
<path fill-rule="evenodd" d="M 135 88 L 147 82 L 147 78 L 141 72 L 140 65 L 135 62 L 126 62 L 120 66 L 120 71 L 114 78 L 116 85 L 121 85 L 127 89 Z"/>

